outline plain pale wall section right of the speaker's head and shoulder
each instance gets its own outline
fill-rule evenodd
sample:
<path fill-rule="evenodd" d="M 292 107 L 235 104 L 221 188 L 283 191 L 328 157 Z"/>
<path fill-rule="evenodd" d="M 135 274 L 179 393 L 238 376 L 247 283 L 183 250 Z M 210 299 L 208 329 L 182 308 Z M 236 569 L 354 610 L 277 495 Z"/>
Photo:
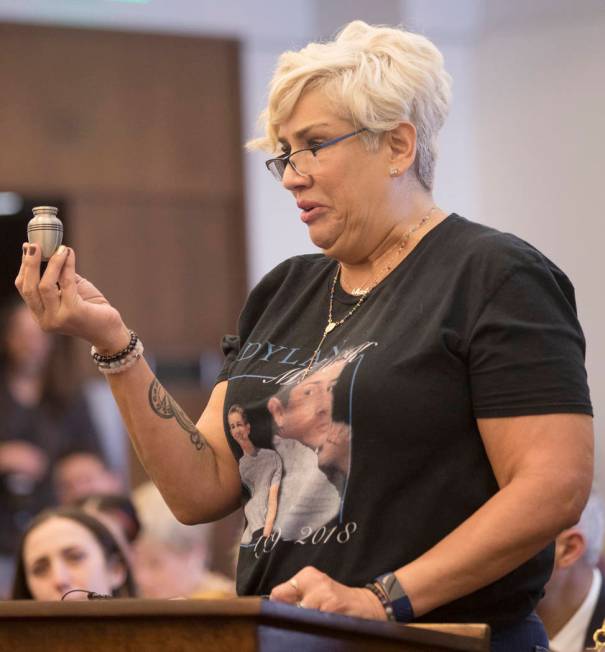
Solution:
<path fill-rule="evenodd" d="M 476 47 L 477 218 L 535 244 L 575 285 L 605 494 L 605 3 L 573 15 L 560 4 L 489 19 Z"/>

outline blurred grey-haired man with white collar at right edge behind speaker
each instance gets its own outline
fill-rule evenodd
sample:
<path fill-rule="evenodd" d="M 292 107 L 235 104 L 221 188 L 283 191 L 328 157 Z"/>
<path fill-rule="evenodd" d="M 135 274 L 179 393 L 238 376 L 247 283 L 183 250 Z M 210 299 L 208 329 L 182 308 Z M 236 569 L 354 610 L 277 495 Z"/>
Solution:
<path fill-rule="evenodd" d="M 603 553 L 605 510 L 591 493 L 577 525 L 555 542 L 555 568 L 538 603 L 552 652 L 583 652 L 605 620 L 605 584 L 598 568 Z"/>

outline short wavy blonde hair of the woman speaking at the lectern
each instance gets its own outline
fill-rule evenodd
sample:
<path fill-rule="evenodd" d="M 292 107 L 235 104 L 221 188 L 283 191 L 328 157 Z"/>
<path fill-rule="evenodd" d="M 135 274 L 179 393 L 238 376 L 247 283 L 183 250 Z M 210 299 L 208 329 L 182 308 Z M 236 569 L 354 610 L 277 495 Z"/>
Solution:
<path fill-rule="evenodd" d="M 368 129 L 363 137 L 370 148 L 377 147 L 379 134 L 411 122 L 417 132 L 414 170 L 420 183 L 432 188 L 437 134 L 449 108 L 451 77 L 431 41 L 356 20 L 334 41 L 284 52 L 260 116 L 265 136 L 250 141 L 248 148 L 276 152 L 280 124 L 301 95 L 315 88 L 328 95 L 339 115 L 356 128 Z"/>

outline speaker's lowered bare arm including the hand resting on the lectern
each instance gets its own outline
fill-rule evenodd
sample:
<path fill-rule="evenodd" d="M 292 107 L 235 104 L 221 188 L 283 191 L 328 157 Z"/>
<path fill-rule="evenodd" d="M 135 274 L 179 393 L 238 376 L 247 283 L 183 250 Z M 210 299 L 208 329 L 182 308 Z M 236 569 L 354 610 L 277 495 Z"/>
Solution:
<path fill-rule="evenodd" d="M 482 419 L 479 430 L 500 490 L 425 554 L 393 569 L 421 616 L 503 577 L 575 524 L 593 475 L 592 419 L 549 414 Z M 384 618 L 367 589 L 346 587 L 315 568 L 272 597 L 367 618 Z"/>

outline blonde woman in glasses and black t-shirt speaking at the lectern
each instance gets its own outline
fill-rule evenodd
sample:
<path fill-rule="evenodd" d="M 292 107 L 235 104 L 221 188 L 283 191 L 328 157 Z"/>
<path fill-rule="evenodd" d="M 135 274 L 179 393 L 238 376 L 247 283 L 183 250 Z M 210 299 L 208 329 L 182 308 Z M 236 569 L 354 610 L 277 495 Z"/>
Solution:
<path fill-rule="evenodd" d="M 72 250 L 40 280 L 28 247 L 17 286 L 45 329 L 84 337 L 102 371 L 122 371 L 108 378 L 133 441 L 189 523 L 240 505 L 228 407 L 260 415 L 346 348 L 342 508 L 294 540 L 274 531 L 241 548 L 239 593 L 365 618 L 484 621 L 492 650 L 529 652 L 546 646 L 533 607 L 551 542 L 590 490 L 584 339 L 551 261 L 435 204 L 449 101 L 441 54 L 403 30 L 356 21 L 282 55 L 253 146 L 272 152 L 267 168 L 321 253 L 252 291 L 196 425 L 119 312 L 75 275 Z"/>

